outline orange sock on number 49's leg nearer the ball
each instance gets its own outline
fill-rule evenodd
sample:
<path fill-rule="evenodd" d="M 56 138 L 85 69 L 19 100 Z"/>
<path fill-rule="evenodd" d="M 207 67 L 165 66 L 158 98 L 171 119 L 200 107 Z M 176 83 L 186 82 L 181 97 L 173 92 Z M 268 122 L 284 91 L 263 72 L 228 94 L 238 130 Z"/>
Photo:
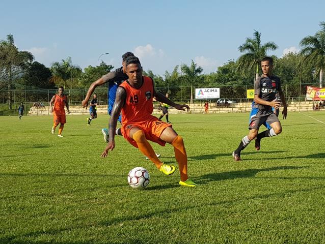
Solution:
<path fill-rule="evenodd" d="M 133 134 L 133 140 L 137 142 L 139 150 L 144 156 L 147 156 L 158 169 L 162 165 L 162 162 L 157 158 L 152 146 L 146 139 L 145 133 L 141 130 L 137 131 Z M 186 153 L 185 153 L 186 154 Z"/>

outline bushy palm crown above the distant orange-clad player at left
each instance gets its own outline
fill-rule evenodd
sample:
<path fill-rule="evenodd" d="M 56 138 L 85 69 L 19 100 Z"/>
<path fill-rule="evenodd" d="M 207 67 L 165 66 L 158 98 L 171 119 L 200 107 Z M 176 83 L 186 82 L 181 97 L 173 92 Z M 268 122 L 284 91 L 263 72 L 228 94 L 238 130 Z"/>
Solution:
<path fill-rule="evenodd" d="M 70 89 L 82 86 L 79 78 L 83 71 L 79 66 L 72 64 L 71 57 L 62 59 L 61 62 L 52 63 L 50 70 L 53 74 L 50 80 L 57 86 L 62 85 L 64 88 Z"/>

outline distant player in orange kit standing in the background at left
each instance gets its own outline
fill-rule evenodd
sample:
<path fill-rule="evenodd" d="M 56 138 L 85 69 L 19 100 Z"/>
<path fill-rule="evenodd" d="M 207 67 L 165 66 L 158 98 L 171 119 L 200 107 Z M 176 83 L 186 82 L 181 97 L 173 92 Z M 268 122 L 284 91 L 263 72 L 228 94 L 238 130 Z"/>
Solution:
<path fill-rule="evenodd" d="M 64 105 L 67 107 L 68 114 L 70 113 L 69 111 L 69 104 L 68 104 L 68 97 L 63 94 L 64 88 L 63 86 L 59 87 L 58 94 L 54 95 L 49 102 L 49 107 L 50 107 L 50 112 L 53 113 L 53 127 L 52 127 L 52 134 L 54 134 L 57 126 L 59 124 L 59 135 L 58 137 L 63 137 L 62 131 L 64 124 L 66 123 L 66 118 L 65 118 L 65 110 L 64 110 Z M 52 104 L 54 103 L 54 108 L 52 107 Z"/>

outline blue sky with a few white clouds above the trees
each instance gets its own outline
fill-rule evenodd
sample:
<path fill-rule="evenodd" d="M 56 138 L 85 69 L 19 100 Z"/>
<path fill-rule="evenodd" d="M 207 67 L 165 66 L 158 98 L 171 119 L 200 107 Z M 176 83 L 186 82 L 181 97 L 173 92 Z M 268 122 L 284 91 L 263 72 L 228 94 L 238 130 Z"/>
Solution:
<path fill-rule="evenodd" d="M 13 34 L 49 67 L 71 56 L 75 65 L 96 66 L 98 57 L 118 68 L 132 51 L 144 70 L 172 72 L 193 59 L 204 73 L 240 55 L 238 46 L 261 32 L 277 51 L 299 50 L 325 21 L 325 1 L 3 1 L 0 39 Z"/>

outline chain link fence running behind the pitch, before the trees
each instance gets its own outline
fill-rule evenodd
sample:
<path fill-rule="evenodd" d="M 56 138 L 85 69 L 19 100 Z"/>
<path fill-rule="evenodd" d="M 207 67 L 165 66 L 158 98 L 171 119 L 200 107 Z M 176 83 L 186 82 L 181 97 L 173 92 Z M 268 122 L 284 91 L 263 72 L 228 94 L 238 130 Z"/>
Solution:
<path fill-rule="evenodd" d="M 317 83 L 282 84 L 282 89 L 287 101 L 306 101 L 306 87 L 317 86 Z M 206 100 L 195 99 L 196 88 L 220 88 L 220 98 L 230 99 L 235 102 L 251 102 L 247 99 L 247 90 L 254 89 L 254 85 L 215 85 L 214 87 L 193 86 L 193 103 L 204 104 Z M 191 86 L 156 87 L 157 92 L 169 93 L 170 99 L 176 103 L 189 104 L 191 99 Z M 57 90 L 2 90 L 0 91 L 0 115 L 17 115 L 20 103 L 25 106 L 25 114 L 31 107 L 49 106 L 49 101 Z M 96 88 L 99 105 L 107 104 L 107 88 Z M 66 89 L 70 106 L 80 106 L 85 99 L 87 89 Z M 218 99 L 209 99 L 210 103 L 216 103 Z"/>

